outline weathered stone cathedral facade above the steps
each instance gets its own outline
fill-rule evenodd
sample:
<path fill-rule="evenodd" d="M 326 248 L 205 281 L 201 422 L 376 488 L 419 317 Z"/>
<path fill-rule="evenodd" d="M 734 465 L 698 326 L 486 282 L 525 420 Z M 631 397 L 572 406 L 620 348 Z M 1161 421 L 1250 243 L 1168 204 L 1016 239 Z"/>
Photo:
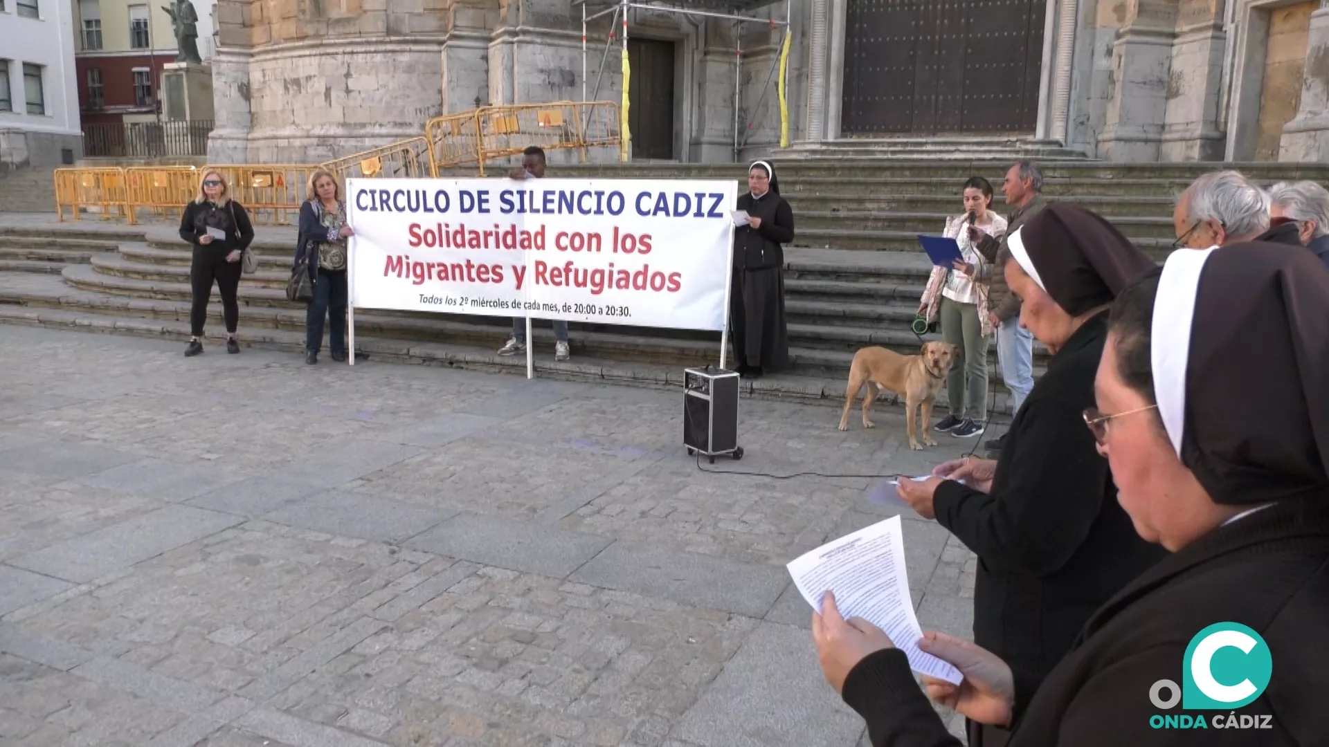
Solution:
<path fill-rule="evenodd" d="M 618 101 L 622 5 L 218 0 L 209 158 L 311 162 L 482 105 Z M 638 160 L 732 162 L 776 149 L 785 28 L 791 141 L 1014 138 L 1108 161 L 1329 157 L 1321 0 L 627 5 Z M 585 43 L 583 9 L 609 11 Z"/>

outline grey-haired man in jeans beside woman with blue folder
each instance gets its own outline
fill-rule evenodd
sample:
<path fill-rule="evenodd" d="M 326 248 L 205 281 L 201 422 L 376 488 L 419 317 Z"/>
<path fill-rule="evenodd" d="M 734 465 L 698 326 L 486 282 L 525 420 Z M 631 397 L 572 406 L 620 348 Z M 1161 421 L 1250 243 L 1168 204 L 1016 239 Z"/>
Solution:
<path fill-rule="evenodd" d="M 973 227 L 969 231 L 974 246 L 990 263 L 982 267 L 979 279 L 991 282 L 987 312 L 997 330 L 997 366 L 1001 367 L 1002 381 L 1010 389 L 1014 415 L 1034 388 L 1034 336 L 1029 330 L 1021 328 L 1019 298 L 1006 286 L 1005 266 L 1010 257 L 1006 239 L 1047 205 L 1043 199 L 1043 170 L 1033 161 L 1019 161 L 1006 171 L 1001 190 L 1006 195 L 1006 205 L 1013 209 L 1006 218 L 1006 233 L 1001 241 Z M 1005 437 L 985 445 L 999 452 Z"/>

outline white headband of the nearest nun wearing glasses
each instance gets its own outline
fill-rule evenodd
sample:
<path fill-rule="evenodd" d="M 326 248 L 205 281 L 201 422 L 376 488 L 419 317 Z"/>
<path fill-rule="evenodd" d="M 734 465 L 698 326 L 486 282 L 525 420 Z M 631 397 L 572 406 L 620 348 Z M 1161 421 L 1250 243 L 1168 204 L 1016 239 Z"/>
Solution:
<path fill-rule="evenodd" d="M 1185 374 L 1191 358 L 1195 300 L 1200 274 L 1213 249 L 1179 249 L 1163 265 L 1158 295 L 1154 296 L 1154 324 L 1150 327 L 1150 366 L 1154 370 L 1154 397 L 1159 416 L 1176 456 L 1181 456 L 1185 428 Z"/>

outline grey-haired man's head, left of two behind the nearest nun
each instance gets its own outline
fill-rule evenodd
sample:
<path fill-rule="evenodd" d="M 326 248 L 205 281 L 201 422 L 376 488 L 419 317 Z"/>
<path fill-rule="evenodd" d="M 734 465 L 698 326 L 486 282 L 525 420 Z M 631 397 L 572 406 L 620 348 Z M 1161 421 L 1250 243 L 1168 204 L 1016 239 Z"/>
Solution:
<path fill-rule="evenodd" d="M 1268 195 L 1239 171 L 1204 174 L 1176 201 L 1172 229 L 1172 249 L 1260 241 L 1269 230 Z"/>

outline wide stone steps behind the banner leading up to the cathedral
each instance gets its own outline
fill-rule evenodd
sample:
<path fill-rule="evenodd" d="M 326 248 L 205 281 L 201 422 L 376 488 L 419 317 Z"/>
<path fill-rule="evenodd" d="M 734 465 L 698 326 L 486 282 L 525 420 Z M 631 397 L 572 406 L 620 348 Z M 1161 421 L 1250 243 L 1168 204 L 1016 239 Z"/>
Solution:
<path fill-rule="evenodd" d="M 958 213 L 958 186 L 971 174 L 999 183 L 1005 163 L 839 163 L 789 160 L 776 163 L 781 190 L 795 210 L 797 238 L 787 250 L 785 308 L 793 370 L 746 383 L 758 396 L 839 403 L 856 350 L 880 344 L 913 352 L 909 331 L 930 270 L 916 234 L 936 233 Z M 1075 199 L 1110 217 L 1154 257 L 1172 238 L 1175 195 L 1213 165 L 1102 165 L 1053 162 L 1045 193 Z M 1285 178 L 1329 181 L 1329 165 L 1241 166 L 1264 182 Z M 736 174 L 735 174 L 736 171 Z M 734 165 L 560 166 L 552 175 L 742 178 Z M 998 210 L 1003 206 L 998 202 Z M 246 344 L 303 350 L 304 307 L 284 298 L 294 229 L 263 226 L 255 241 L 260 271 L 241 286 L 241 338 Z M 106 251 L 116 246 L 117 251 Z M 12 250 L 13 257 L 7 257 Z M 49 219 L 5 222 L 0 215 L 0 259 L 65 262 L 58 275 L 15 272 L 36 266 L 0 265 L 0 322 L 81 327 L 120 334 L 187 339 L 189 253 L 173 225 L 124 226 L 105 221 L 53 225 Z M 9 271 L 5 271 L 9 270 Z M 210 308 L 209 331 L 221 332 L 221 306 Z M 356 347 L 379 359 L 490 371 L 525 371 L 524 359 L 498 358 L 510 322 L 494 316 L 356 312 Z M 542 375 L 601 381 L 676 385 L 690 366 L 716 364 L 719 335 L 621 326 L 573 324 L 573 360 L 552 360 L 548 323 L 536 328 Z M 1035 346 L 1035 370 L 1046 351 Z M 995 408 L 1006 411 L 989 360 Z"/>

